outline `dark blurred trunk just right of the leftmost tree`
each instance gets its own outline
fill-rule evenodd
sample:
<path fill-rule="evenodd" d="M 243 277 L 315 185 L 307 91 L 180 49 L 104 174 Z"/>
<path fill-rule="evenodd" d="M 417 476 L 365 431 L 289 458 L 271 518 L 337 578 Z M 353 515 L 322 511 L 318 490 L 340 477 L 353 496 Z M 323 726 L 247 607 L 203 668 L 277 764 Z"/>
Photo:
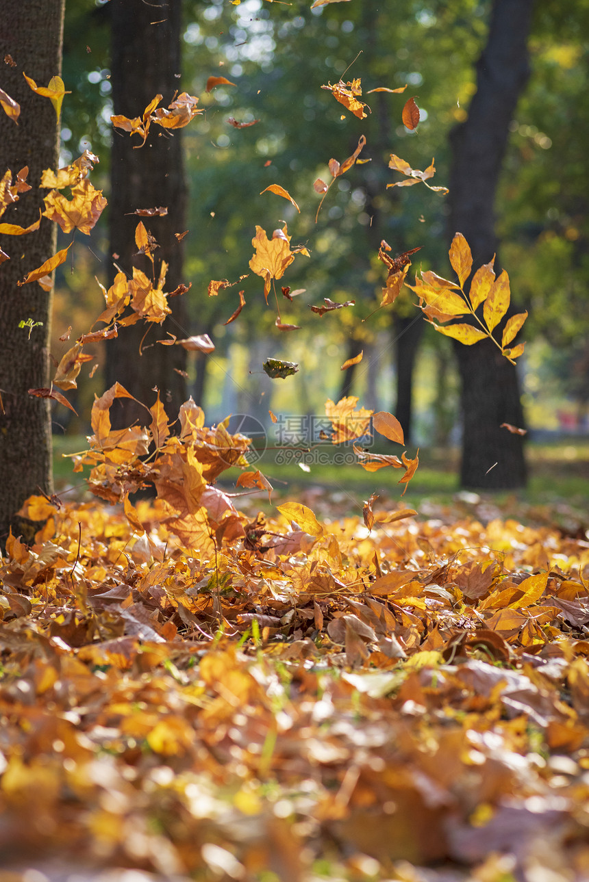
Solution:
<path fill-rule="evenodd" d="M 142 0 L 111 0 L 112 26 L 111 83 L 115 115 L 142 116 L 144 108 L 162 94 L 167 107 L 180 90 L 181 0 L 167 4 L 146 4 Z M 163 19 L 163 20 L 161 20 Z M 145 146 L 140 138 L 116 129 L 111 154 L 110 251 L 113 265 L 109 282 L 117 273 L 117 264 L 127 276 L 133 265 L 150 274 L 149 261 L 137 254 L 135 228 L 141 220 L 131 214 L 137 208 L 166 206 L 167 215 L 143 218 L 147 230 L 155 236 L 159 260 L 168 264 L 166 291 L 184 281 L 182 277 L 183 243 L 174 235 L 185 230 L 186 184 L 182 157 L 181 131 L 172 132 L 153 126 Z M 117 255 L 117 257 L 114 257 Z M 118 381 L 148 407 L 155 401 L 157 387 L 162 403 L 172 418 L 186 398 L 186 354 L 182 347 L 162 346 L 155 340 L 166 338 L 167 331 L 182 338 L 189 336 L 183 297 L 169 302 L 172 315 L 163 325 L 149 327 L 138 323 L 122 328 L 107 347 L 106 385 Z M 147 332 L 147 336 L 146 336 Z M 141 342 L 143 338 L 145 340 Z M 113 425 L 128 425 L 135 420 L 146 422 L 147 412 L 130 400 L 113 407 Z"/>

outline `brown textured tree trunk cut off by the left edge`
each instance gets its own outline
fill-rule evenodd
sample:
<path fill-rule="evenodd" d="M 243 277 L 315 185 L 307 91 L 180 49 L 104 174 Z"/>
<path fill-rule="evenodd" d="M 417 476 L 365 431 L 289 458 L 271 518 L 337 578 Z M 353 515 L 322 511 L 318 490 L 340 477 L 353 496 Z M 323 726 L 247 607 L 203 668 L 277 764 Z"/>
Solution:
<path fill-rule="evenodd" d="M 61 73 L 64 0 L 4 0 L 0 14 L 2 86 L 20 104 L 18 125 L 0 111 L 0 176 L 10 168 L 12 180 L 28 166 L 33 187 L 20 193 L 1 222 L 28 227 L 39 219 L 44 168 L 57 168 L 59 126 L 49 99 L 35 94 L 23 72 L 38 86 L 47 86 Z M 66 97 L 67 100 L 67 97 Z M 49 385 L 49 332 L 52 292 L 37 282 L 17 287 L 17 281 L 56 253 L 57 225 L 46 219 L 34 233 L 0 235 L 0 248 L 10 256 L 0 264 L 0 544 L 9 527 L 27 540 L 30 524 L 15 517 L 33 493 L 52 490 L 51 417 L 49 400 L 31 397 L 28 389 Z M 19 328 L 28 318 L 42 325 Z M 27 529 L 28 527 L 28 529 Z"/>

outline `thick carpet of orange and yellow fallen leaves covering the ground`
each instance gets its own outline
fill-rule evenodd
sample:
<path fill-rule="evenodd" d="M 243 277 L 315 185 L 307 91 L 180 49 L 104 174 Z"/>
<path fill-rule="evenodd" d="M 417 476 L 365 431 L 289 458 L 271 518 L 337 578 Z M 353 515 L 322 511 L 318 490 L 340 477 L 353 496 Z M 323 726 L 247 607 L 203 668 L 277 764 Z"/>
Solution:
<path fill-rule="evenodd" d="M 374 497 L 247 518 L 215 477 L 249 439 L 99 401 L 107 502 L 32 497 L 0 567 L 4 867 L 586 878 L 588 542 Z"/>

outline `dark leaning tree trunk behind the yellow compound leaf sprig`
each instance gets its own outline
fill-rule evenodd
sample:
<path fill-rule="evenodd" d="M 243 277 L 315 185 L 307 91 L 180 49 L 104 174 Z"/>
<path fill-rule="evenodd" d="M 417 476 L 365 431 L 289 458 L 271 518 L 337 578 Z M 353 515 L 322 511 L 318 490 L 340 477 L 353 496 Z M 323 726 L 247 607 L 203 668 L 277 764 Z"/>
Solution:
<path fill-rule="evenodd" d="M 495 0 L 487 46 L 477 64 L 477 91 L 467 119 L 450 133 L 449 233 L 466 236 L 475 268 L 497 250 L 495 192 L 509 123 L 529 76 L 532 8 L 533 0 Z M 500 429 L 502 422 L 523 422 L 517 372 L 501 356 L 498 360 L 494 349 L 455 346 L 464 420 L 461 484 L 481 490 L 525 485 L 522 438 Z"/>

